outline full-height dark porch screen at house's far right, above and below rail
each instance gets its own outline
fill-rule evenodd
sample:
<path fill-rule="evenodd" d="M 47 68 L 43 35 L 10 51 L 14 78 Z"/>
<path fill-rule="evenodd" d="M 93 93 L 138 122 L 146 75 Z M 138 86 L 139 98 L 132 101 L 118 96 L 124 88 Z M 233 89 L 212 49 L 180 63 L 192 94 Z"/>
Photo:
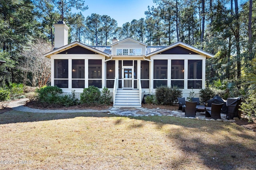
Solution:
<path fill-rule="evenodd" d="M 202 60 L 188 60 L 188 88 L 202 88 Z"/>

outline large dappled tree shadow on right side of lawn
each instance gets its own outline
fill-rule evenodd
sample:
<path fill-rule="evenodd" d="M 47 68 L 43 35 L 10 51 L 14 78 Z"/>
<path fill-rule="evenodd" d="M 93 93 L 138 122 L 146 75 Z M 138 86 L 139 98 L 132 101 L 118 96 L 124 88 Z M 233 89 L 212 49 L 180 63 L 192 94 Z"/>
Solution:
<path fill-rule="evenodd" d="M 208 169 L 254 170 L 256 167 L 256 137 L 246 129 L 230 122 L 202 121 L 179 117 L 130 117 L 156 124 L 161 130 L 164 125 L 177 125 L 167 131 L 168 138 L 189 158 L 165 162 L 167 167 L 186 169 L 184 164 L 200 160 Z M 228 134 L 228 135 L 226 135 Z M 213 139 L 205 139 L 204 136 Z M 246 143 L 248 141 L 248 145 Z"/>

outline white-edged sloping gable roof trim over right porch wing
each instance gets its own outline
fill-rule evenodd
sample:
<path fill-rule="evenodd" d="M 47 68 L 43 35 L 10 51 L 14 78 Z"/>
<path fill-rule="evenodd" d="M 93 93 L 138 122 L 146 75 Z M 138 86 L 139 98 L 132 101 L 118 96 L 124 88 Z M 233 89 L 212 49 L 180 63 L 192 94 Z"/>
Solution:
<path fill-rule="evenodd" d="M 193 47 L 193 46 L 191 46 L 191 45 L 188 45 L 188 44 L 186 44 L 186 43 L 183 43 L 183 42 L 181 42 L 181 41 L 178 41 L 177 43 L 173 43 L 172 45 L 169 45 L 169 46 L 166 46 L 166 47 L 164 47 L 164 48 L 160 48 L 160 49 L 158 49 L 158 50 L 156 50 L 156 51 L 153 51 L 153 52 L 151 52 L 151 53 L 148 53 L 148 54 L 146 55 L 146 57 L 149 57 L 149 56 L 151 56 L 151 55 L 156 55 L 156 54 L 162 53 L 162 52 L 164 52 L 164 51 L 166 51 L 166 50 L 168 50 L 168 49 L 172 49 L 172 48 L 177 47 L 177 46 L 183 47 L 184 49 L 193 51 L 194 53 L 197 53 L 197 54 L 200 54 L 200 55 L 205 55 L 207 59 L 210 59 L 210 58 L 214 57 L 214 55 L 212 55 L 212 54 L 210 54 L 210 53 L 207 53 L 207 52 L 205 52 L 205 51 L 203 51 L 203 50 L 200 50 L 200 49 L 198 49 L 198 48 L 195 48 L 195 47 Z"/>

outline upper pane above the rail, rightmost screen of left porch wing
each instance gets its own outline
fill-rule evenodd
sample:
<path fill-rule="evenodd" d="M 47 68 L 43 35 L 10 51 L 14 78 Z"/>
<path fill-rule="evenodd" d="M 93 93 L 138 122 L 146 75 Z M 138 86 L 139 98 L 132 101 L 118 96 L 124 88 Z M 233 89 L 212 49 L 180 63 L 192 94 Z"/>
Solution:
<path fill-rule="evenodd" d="M 102 60 L 89 60 L 88 64 L 89 78 L 102 78 Z"/>

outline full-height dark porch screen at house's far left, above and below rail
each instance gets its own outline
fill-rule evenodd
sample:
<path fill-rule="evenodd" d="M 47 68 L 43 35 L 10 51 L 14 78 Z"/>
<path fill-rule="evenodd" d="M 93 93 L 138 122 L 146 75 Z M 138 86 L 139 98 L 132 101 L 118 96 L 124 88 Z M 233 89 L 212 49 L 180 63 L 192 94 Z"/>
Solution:
<path fill-rule="evenodd" d="M 54 86 L 68 88 L 68 60 L 54 60 Z"/>

